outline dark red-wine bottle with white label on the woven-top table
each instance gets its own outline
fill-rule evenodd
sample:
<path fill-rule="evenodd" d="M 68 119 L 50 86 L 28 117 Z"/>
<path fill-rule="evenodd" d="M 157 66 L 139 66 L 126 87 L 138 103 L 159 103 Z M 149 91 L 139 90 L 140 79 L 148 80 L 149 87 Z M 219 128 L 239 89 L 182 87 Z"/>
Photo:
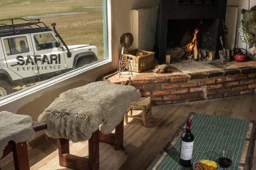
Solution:
<path fill-rule="evenodd" d="M 181 135 L 179 163 L 183 167 L 188 167 L 191 164 L 194 145 L 194 136 L 191 133 L 191 122 L 191 119 L 187 119 L 186 132 Z"/>

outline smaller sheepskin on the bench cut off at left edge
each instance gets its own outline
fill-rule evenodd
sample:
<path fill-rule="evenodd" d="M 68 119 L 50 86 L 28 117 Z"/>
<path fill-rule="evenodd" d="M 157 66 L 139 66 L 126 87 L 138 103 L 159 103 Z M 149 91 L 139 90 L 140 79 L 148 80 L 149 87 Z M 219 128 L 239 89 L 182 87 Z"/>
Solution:
<path fill-rule="evenodd" d="M 35 137 L 32 117 L 14 114 L 8 111 L 0 112 L 0 158 L 3 149 L 10 140 L 15 142 L 30 141 Z"/>

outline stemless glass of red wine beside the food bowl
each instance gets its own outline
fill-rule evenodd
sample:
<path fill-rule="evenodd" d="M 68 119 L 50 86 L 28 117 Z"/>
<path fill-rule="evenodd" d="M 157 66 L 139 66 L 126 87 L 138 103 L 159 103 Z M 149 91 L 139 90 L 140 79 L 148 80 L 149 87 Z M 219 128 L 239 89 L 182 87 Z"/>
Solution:
<path fill-rule="evenodd" d="M 223 168 L 228 168 L 232 164 L 232 151 L 227 146 L 222 146 L 218 151 L 218 164 Z"/>

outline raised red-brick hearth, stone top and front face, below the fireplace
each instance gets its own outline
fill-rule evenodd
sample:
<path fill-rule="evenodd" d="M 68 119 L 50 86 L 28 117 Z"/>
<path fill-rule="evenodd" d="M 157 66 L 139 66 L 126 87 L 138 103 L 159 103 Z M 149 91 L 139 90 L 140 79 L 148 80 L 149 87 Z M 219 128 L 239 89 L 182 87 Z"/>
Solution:
<path fill-rule="evenodd" d="M 122 83 L 131 76 L 123 72 L 108 78 Z M 156 74 L 152 69 L 134 73 L 132 85 L 142 96 L 150 96 L 152 105 L 194 102 L 238 96 L 256 92 L 256 61 L 221 63 L 213 61 L 171 61 L 168 72 Z"/>

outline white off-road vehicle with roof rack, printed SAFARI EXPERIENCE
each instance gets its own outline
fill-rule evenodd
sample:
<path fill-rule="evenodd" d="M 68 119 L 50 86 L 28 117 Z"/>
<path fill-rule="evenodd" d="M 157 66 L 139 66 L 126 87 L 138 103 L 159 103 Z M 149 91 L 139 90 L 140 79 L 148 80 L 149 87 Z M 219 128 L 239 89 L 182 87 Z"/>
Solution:
<path fill-rule="evenodd" d="M 40 19 L 0 20 L 0 97 L 13 88 L 42 81 L 98 60 L 90 45 L 66 45 L 52 23 Z M 58 37 L 58 39 L 57 39 Z"/>

